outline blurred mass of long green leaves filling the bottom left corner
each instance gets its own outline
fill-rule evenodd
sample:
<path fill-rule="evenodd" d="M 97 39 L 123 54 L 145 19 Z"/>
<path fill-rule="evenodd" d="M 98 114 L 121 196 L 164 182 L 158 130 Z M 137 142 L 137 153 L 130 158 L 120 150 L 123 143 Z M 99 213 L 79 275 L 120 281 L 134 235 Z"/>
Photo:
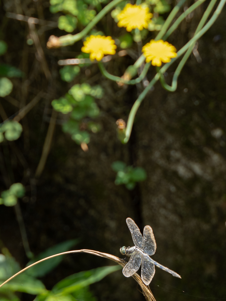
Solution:
<path fill-rule="evenodd" d="M 67 240 L 40 253 L 36 258 L 27 263 L 27 266 L 48 256 L 66 252 L 79 242 L 78 239 Z M 20 271 L 19 264 L 11 256 L 8 249 L 3 248 L 0 254 L 0 283 Z M 52 271 L 63 259 L 57 256 L 48 261 L 40 262 L 0 288 L 1 301 L 19 301 L 15 292 L 37 295 L 36 301 L 75 301 L 76 299 L 96 301 L 96 297 L 89 291 L 89 285 L 100 281 L 108 274 L 121 269 L 120 265 L 105 266 L 90 271 L 79 272 L 58 282 L 52 290 L 47 290 L 42 281 L 37 277 L 43 277 Z"/>

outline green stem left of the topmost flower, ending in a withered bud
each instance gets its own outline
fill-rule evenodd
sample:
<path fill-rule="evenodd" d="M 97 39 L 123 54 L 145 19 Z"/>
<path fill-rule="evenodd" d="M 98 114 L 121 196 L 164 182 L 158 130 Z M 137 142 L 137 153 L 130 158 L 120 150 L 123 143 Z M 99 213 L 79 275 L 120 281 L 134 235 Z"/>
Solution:
<path fill-rule="evenodd" d="M 89 22 L 89 24 L 80 33 L 77 33 L 76 35 L 68 34 L 68 35 L 59 37 L 59 42 L 60 42 L 61 46 L 72 45 L 75 42 L 82 39 L 93 28 L 93 26 L 95 26 L 96 23 L 98 23 L 102 19 L 102 17 L 108 13 L 108 11 L 110 11 L 112 8 L 114 8 L 121 1 L 122 0 L 111 1 L 108 5 L 106 5 L 102 9 L 102 11 L 99 12 L 99 14 L 96 15 L 96 17 L 93 18 L 93 20 L 91 22 Z"/>

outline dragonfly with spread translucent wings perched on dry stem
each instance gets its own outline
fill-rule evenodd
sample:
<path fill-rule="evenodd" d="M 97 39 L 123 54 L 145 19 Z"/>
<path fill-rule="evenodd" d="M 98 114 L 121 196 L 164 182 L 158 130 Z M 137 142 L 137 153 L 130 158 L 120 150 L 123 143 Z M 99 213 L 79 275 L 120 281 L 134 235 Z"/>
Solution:
<path fill-rule="evenodd" d="M 121 247 L 120 253 L 130 257 L 122 272 L 126 277 L 132 276 L 138 271 L 141 265 L 141 279 L 144 284 L 149 285 L 155 274 L 155 265 L 158 268 L 172 274 L 174 277 L 181 278 L 176 272 L 166 268 L 153 260 L 150 256 L 155 254 L 156 242 L 150 226 L 145 226 L 143 236 L 135 222 L 129 217 L 126 219 L 128 228 L 130 229 L 134 247 Z"/>

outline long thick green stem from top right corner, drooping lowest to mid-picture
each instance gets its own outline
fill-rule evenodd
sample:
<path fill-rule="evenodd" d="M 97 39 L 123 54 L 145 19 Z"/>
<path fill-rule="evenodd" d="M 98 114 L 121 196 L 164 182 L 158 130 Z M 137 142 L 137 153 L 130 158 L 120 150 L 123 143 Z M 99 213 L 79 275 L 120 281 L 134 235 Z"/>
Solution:
<path fill-rule="evenodd" d="M 222 8 L 224 7 L 225 2 L 226 2 L 226 0 L 221 0 L 220 1 L 220 3 L 218 4 L 217 9 L 213 13 L 213 15 L 210 18 L 210 20 L 206 23 L 206 25 L 186 45 L 184 45 L 184 47 L 182 47 L 177 52 L 177 57 L 175 57 L 174 59 L 172 59 L 170 63 L 165 64 L 159 70 L 159 72 L 156 73 L 155 77 L 152 79 L 152 81 L 149 83 L 149 85 L 139 95 L 139 97 L 137 98 L 137 100 L 133 104 L 132 109 L 130 110 L 130 114 L 129 114 L 128 122 L 127 122 L 127 127 L 126 127 L 126 132 L 125 132 L 126 137 L 124 138 L 124 143 L 127 143 L 129 141 L 130 134 L 131 134 L 132 127 L 133 127 L 133 121 L 134 121 L 135 115 L 137 113 L 137 110 L 140 107 L 141 102 L 143 101 L 143 99 L 145 98 L 145 96 L 149 92 L 149 90 L 152 88 L 152 86 L 159 80 L 159 78 L 161 76 L 161 73 L 164 74 L 166 72 L 166 70 L 171 66 L 171 64 L 174 63 L 174 61 L 176 61 L 191 45 L 193 45 L 204 33 L 206 33 L 206 31 L 212 26 L 212 24 L 218 18 L 219 14 L 222 11 Z M 205 17 L 206 16 L 207 16 L 207 13 L 206 13 Z"/>

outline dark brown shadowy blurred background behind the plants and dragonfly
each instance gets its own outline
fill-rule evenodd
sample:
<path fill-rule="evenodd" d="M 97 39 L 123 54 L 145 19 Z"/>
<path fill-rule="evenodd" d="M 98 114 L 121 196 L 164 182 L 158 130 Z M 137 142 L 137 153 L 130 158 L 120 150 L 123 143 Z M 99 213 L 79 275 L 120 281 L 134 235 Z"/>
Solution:
<path fill-rule="evenodd" d="M 119 248 L 133 244 L 126 225 L 131 217 L 143 231 L 153 229 L 157 244 L 153 259 L 176 271 L 182 279 L 156 268 L 150 288 L 159 300 L 198 300 L 225 298 L 226 252 L 226 24 L 225 9 L 199 40 L 201 61 L 192 54 L 179 77 L 176 92 L 165 91 L 159 82 L 141 104 L 129 142 L 117 139 L 116 120 L 127 121 L 137 98 L 134 86 L 118 87 L 103 77 L 96 66 L 90 73 L 81 69 L 73 82 L 101 84 L 105 94 L 97 100 L 101 110 L 98 122 L 102 129 L 92 134 L 89 151 L 84 152 L 62 132 L 62 116 L 57 124 L 46 166 L 39 179 L 34 178 L 52 113 L 51 101 L 68 91 L 72 84 L 60 79 L 57 61 L 75 57 L 82 42 L 59 49 L 47 49 L 51 34 L 64 35 L 56 29 L 45 31 L 39 39 L 52 74 L 47 81 L 37 60 L 34 45 L 27 45 L 26 22 L 5 16 L 6 11 L 57 21 L 49 12 L 48 1 L 6 1 L 1 6 L 1 38 L 8 44 L 1 58 L 24 71 L 23 79 L 11 79 L 11 97 L 28 103 L 39 91 L 46 93 L 22 120 L 23 134 L 13 144 L 25 158 L 23 166 L 8 142 L 0 145 L 6 174 L 1 175 L 1 191 L 7 189 L 4 176 L 11 165 L 15 182 L 27 175 L 26 197 L 20 206 L 32 252 L 37 255 L 61 241 L 80 238 L 75 249 L 91 249 L 120 257 Z M 172 3 L 173 5 L 173 3 Z M 184 20 L 169 38 L 177 49 L 190 38 L 207 4 L 199 8 L 191 20 Z M 167 14 L 166 14 L 167 17 Z M 188 22 L 189 21 L 189 22 Z M 106 35 L 105 22 L 119 29 L 106 16 L 99 27 Z M 37 26 L 38 28 L 38 26 Z M 135 49 L 135 46 L 134 46 Z M 133 64 L 129 56 L 108 63 L 108 71 L 121 76 Z M 175 66 L 167 71 L 171 83 Z M 88 75 L 87 75 L 88 74 Z M 152 79 L 154 68 L 147 77 Z M 18 108 L 0 99 L 7 116 Z M 143 167 L 147 179 L 129 191 L 116 186 L 111 164 L 124 161 L 127 165 Z M 3 166 L 3 165 L 2 165 Z M 2 168 L 4 173 L 4 169 Z M 0 235 L 5 247 L 24 267 L 25 255 L 13 207 L 0 207 Z M 68 255 L 63 262 L 42 278 L 47 289 L 75 272 L 112 264 L 107 259 L 88 254 Z M 91 285 L 100 301 L 144 300 L 137 283 L 125 278 L 121 271 L 108 275 Z M 34 296 L 22 294 L 21 300 Z"/>

